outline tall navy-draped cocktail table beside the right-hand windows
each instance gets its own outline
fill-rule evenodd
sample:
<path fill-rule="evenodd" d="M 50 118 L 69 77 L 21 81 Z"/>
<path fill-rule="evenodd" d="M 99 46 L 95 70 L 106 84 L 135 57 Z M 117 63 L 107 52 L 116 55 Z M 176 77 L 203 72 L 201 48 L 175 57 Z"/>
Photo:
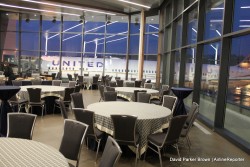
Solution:
<path fill-rule="evenodd" d="M 186 115 L 187 111 L 185 109 L 183 99 L 188 97 L 188 95 L 190 95 L 190 93 L 192 93 L 193 89 L 172 87 L 171 90 L 174 93 L 174 95 L 178 97 L 176 107 L 175 107 L 175 110 L 173 112 L 173 116 Z"/>

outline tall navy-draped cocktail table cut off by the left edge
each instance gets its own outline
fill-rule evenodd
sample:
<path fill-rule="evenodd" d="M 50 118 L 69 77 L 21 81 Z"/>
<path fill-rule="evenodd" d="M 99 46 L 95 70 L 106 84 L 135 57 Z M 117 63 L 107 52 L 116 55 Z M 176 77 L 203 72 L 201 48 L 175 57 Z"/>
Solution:
<path fill-rule="evenodd" d="M 12 112 L 8 100 L 20 90 L 19 86 L 0 86 L 1 119 L 0 119 L 0 136 L 7 134 L 7 113 Z"/>

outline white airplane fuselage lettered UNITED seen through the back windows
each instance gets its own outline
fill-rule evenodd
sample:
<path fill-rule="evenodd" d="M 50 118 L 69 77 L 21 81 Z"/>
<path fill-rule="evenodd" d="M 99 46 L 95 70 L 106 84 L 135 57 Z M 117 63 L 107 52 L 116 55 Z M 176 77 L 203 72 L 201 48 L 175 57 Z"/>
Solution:
<path fill-rule="evenodd" d="M 155 81 L 156 76 L 156 61 L 144 62 L 144 76 L 143 78 Z M 102 75 L 103 59 L 102 58 L 83 58 L 82 64 L 83 74 Z M 43 71 L 49 73 L 58 72 L 59 70 L 59 57 L 56 56 L 42 56 L 41 68 Z M 62 58 L 62 76 L 67 77 L 67 74 L 81 73 L 81 58 L 80 57 L 63 57 Z M 119 58 L 105 58 L 105 75 L 114 77 L 125 78 L 126 73 L 126 59 Z M 129 78 L 138 77 L 138 61 L 129 60 Z"/>

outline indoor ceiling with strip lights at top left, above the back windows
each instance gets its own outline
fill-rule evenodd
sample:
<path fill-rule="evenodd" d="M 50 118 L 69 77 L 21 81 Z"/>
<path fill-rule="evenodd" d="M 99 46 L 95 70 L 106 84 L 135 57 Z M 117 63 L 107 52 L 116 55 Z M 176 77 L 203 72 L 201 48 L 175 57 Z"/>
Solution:
<path fill-rule="evenodd" d="M 34 1 L 49 2 L 49 3 L 58 4 L 58 5 L 78 7 L 78 8 L 84 8 L 84 9 L 97 9 L 102 12 L 109 12 L 111 14 L 116 14 L 116 15 L 127 15 L 127 14 L 131 14 L 134 12 L 140 12 L 141 10 L 147 11 L 150 9 L 158 8 L 164 0 L 130 0 L 131 2 L 134 2 L 134 3 L 140 3 L 143 5 L 150 6 L 151 7 L 150 9 L 124 3 L 119 0 L 50 0 L 50 1 L 34 0 Z M 34 13 L 34 11 L 25 10 L 25 9 L 3 7 L 1 6 L 1 3 L 8 4 L 8 5 L 28 7 L 28 8 L 52 10 L 52 11 L 57 11 L 57 12 L 66 12 L 66 13 L 72 13 L 72 14 L 78 14 L 78 15 L 83 14 L 83 11 L 81 10 L 68 9 L 65 7 L 55 7 L 55 6 L 50 6 L 46 4 L 36 4 L 36 3 L 31 3 L 31 2 L 25 2 L 22 0 L 0 0 L 0 9 L 4 9 L 4 10 L 8 9 L 9 11 L 16 11 L 16 12 L 28 12 L 28 13 L 33 12 Z M 43 15 L 52 15 L 46 12 L 36 12 L 36 13 L 43 14 Z M 93 13 L 93 12 L 84 12 L 84 14 L 85 15 L 103 15 L 100 13 Z"/>

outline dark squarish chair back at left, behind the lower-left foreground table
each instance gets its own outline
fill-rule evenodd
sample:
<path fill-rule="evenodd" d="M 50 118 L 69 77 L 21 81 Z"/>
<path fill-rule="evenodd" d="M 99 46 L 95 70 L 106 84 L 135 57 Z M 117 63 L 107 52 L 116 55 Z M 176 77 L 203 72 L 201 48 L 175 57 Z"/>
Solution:
<path fill-rule="evenodd" d="M 36 115 L 27 113 L 8 113 L 7 137 L 32 139 Z"/>

